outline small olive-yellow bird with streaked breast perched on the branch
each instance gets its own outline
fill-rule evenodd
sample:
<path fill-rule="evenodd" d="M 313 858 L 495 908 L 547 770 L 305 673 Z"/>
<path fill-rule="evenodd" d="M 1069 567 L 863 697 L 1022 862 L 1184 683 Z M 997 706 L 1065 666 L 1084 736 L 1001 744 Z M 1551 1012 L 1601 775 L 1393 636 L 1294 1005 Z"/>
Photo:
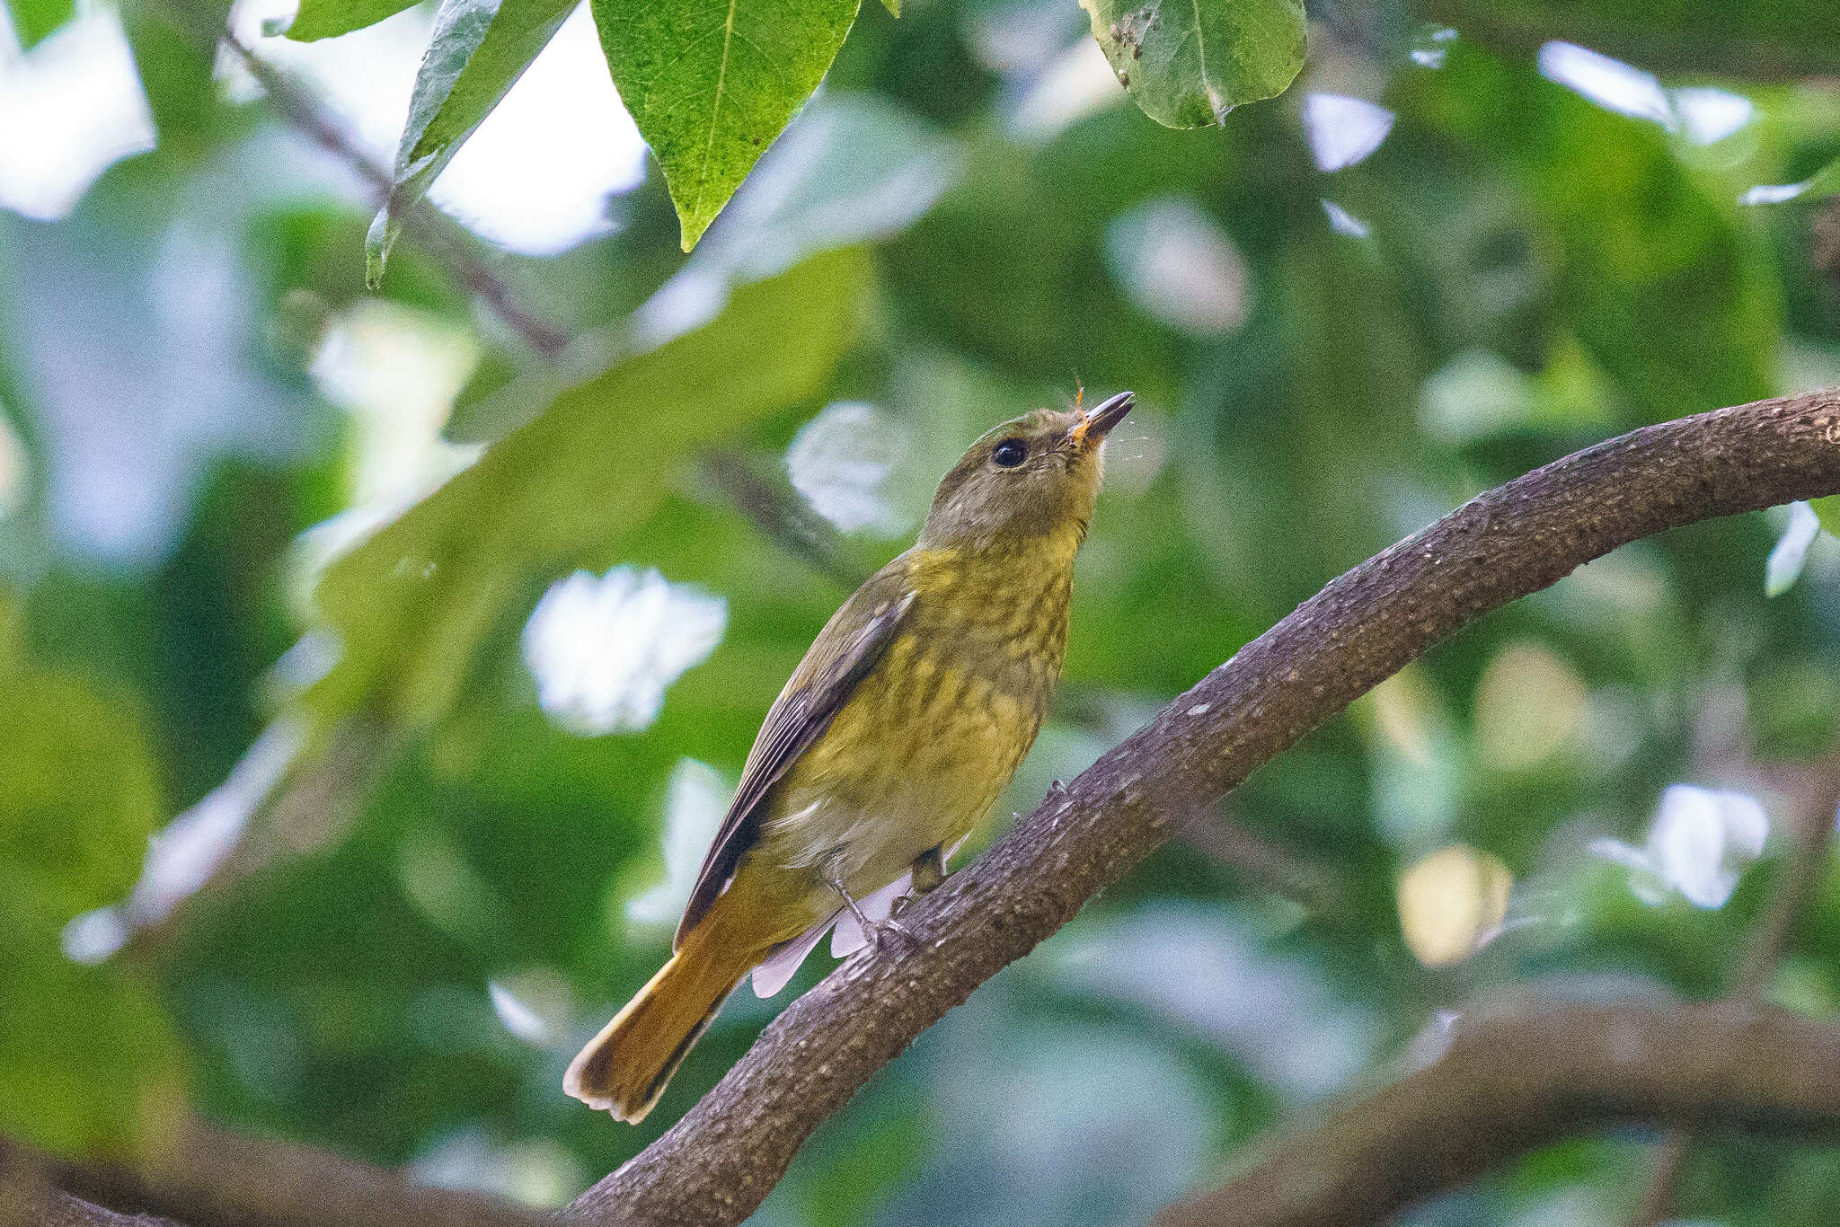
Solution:
<path fill-rule="evenodd" d="M 569 1065 L 569 1095 L 642 1120 L 749 971 L 760 990 L 775 962 L 784 984 L 834 923 L 880 944 L 900 922 L 870 896 L 944 881 L 1041 730 L 1073 556 L 1128 412 L 1130 392 L 1041 408 L 953 465 L 920 541 L 832 614 L 773 703 L 675 953 Z"/>

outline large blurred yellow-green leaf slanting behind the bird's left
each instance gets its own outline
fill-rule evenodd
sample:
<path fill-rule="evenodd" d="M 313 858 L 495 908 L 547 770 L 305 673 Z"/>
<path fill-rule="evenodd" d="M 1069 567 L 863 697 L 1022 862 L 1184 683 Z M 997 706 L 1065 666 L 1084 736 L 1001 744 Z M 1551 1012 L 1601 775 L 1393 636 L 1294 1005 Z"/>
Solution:
<path fill-rule="evenodd" d="M 705 445 L 813 396 L 856 337 L 857 248 L 734 291 L 710 324 L 554 397 L 315 591 L 337 666 L 307 692 L 322 717 L 374 703 L 407 725 L 453 703 L 478 642 L 532 579 L 605 548 Z"/>

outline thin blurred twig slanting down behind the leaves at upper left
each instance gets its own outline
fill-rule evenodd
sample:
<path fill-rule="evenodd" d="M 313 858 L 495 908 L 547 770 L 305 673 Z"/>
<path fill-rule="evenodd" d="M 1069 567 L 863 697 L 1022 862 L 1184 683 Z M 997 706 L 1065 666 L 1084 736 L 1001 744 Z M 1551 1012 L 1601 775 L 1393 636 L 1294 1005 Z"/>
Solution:
<path fill-rule="evenodd" d="M 390 191 L 396 186 L 396 178 L 390 171 L 372 162 L 370 155 L 364 153 L 344 129 L 333 123 L 333 120 L 320 110 L 305 90 L 300 90 L 293 81 L 289 81 L 287 74 L 258 55 L 256 50 L 237 39 L 234 31 L 226 29 L 219 37 L 223 39 L 223 44 L 243 61 L 248 74 L 256 77 L 258 85 L 261 85 L 263 92 L 289 123 L 350 166 L 359 178 L 377 191 L 379 204 L 390 199 Z M 414 230 L 416 237 L 421 239 L 425 247 L 434 250 L 442 263 L 445 263 L 447 269 L 460 278 L 466 289 L 491 307 L 499 318 L 523 337 L 532 350 L 545 359 L 556 359 L 561 355 L 563 348 L 569 344 L 567 333 L 548 320 L 541 320 L 526 311 L 524 305 L 517 302 L 512 289 L 486 267 L 486 261 L 478 258 L 478 252 L 473 250 L 471 243 L 453 232 L 453 226 L 440 213 L 440 210 L 427 201 L 416 201 L 416 204 L 405 212 L 403 224 Z"/>

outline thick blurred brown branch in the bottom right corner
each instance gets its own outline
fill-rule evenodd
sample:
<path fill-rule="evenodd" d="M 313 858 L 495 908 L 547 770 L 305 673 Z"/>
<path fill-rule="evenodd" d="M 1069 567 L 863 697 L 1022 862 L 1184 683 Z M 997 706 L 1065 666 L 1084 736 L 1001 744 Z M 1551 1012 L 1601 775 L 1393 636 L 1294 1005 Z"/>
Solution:
<path fill-rule="evenodd" d="M 1840 1131 L 1840 1030 L 1746 1003 L 1533 1003 L 1459 1021 L 1430 1065 L 1271 1144 L 1154 1227 L 1354 1227 L 1614 1126 Z"/>

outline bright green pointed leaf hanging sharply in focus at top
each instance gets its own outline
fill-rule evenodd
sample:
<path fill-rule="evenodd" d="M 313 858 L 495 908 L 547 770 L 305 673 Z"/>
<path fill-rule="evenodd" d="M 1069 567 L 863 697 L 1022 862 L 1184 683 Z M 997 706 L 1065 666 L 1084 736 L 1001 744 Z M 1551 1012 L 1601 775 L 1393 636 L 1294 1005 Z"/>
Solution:
<path fill-rule="evenodd" d="M 856 13 L 857 0 L 594 0 L 686 252 L 824 79 Z"/>

